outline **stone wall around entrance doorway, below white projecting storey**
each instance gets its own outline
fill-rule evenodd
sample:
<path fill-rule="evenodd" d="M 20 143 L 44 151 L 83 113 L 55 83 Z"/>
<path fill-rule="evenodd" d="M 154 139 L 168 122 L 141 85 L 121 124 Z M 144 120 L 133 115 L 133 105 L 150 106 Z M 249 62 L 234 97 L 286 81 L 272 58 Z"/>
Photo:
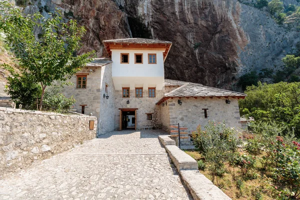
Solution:
<path fill-rule="evenodd" d="M 114 124 L 115 129 L 119 128 L 119 109 L 118 108 L 138 108 L 136 110 L 136 129 L 141 127 L 152 126 L 154 128 L 161 128 L 160 106 L 155 103 L 163 96 L 162 90 L 156 90 L 155 97 L 148 97 L 148 88 L 143 89 L 143 97 L 135 97 L 135 89 L 130 90 L 130 97 L 123 98 L 122 91 L 115 91 L 115 115 Z M 129 104 L 126 101 L 129 100 Z M 152 120 L 147 120 L 145 113 L 152 113 Z"/>

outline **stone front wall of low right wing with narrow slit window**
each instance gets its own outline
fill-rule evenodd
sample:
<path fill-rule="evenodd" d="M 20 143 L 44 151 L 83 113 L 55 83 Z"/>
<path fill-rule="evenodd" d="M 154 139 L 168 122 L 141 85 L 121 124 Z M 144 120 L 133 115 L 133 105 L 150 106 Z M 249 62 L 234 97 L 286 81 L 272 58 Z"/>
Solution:
<path fill-rule="evenodd" d="M 178 98 L 168 99 L 170 124 L 179 123 L 180 126 L 188 128 L 188 132 L 196 130 L 198 125 L 203 126 L 208 120 L 222 122 L 228 127 L 234 127 L 241 131 L 240 116 L 237 99 L 229 97 L 230 104 L 225 103 L 225 98 L 181 98 L 182 105 L 177 103 Z M 204 110 L 208 108 L 207 118 L 204 118 Z"/>

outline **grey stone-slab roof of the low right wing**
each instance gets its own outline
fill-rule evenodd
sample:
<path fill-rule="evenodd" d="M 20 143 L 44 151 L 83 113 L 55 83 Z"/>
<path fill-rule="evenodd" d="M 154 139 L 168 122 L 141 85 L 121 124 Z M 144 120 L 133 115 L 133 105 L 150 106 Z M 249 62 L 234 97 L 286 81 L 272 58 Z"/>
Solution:
<path fill-rule="evenodd" d="M 246 94 L 235 91 L 219 89 L 215 87 L 208 87 L 202 84 L 188 82 L 166 94 L 164 97 L 188 97 L 188 96 L 200 96 L 200 97 L 213 97 L 213 96 L 240 96 L 244 97 Z"/>

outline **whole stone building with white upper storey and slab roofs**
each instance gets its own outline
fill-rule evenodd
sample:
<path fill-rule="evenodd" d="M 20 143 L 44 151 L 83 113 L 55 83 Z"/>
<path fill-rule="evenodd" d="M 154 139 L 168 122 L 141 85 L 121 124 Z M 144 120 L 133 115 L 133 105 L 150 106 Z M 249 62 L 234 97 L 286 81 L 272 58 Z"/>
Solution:
<path fill-rule="evenodd" d="M 164 79 L 169 41 L 144 38 L 103 41 L 109 58 L 88 63 L 64 87 L 76 99 L 74 109 L 98 118 L 97 134 L 112 130 L 159 128 L 179 123 L 196 129 L 208 120 L 240 127 L 243 93 Z"/>

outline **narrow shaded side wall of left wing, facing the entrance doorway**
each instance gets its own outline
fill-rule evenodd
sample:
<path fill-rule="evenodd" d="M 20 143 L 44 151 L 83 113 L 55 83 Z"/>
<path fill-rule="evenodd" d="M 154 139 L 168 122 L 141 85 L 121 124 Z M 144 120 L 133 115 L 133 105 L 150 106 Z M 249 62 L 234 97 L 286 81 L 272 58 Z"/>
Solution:
<path fill-rule="evenodd" d="M 105 85 L 107 85 L 107 93 L 105 92 Z M 97 135 L 105 134 L 114 130 L 114 100 L 115 91 L 111 77 L 111 64 L 101 67 L 101 85 L 100 85 L 100 113 L 98 116 L 98 130 Z M 103 97 L 103 94 L 108 95 L 109 98 Z"/>

